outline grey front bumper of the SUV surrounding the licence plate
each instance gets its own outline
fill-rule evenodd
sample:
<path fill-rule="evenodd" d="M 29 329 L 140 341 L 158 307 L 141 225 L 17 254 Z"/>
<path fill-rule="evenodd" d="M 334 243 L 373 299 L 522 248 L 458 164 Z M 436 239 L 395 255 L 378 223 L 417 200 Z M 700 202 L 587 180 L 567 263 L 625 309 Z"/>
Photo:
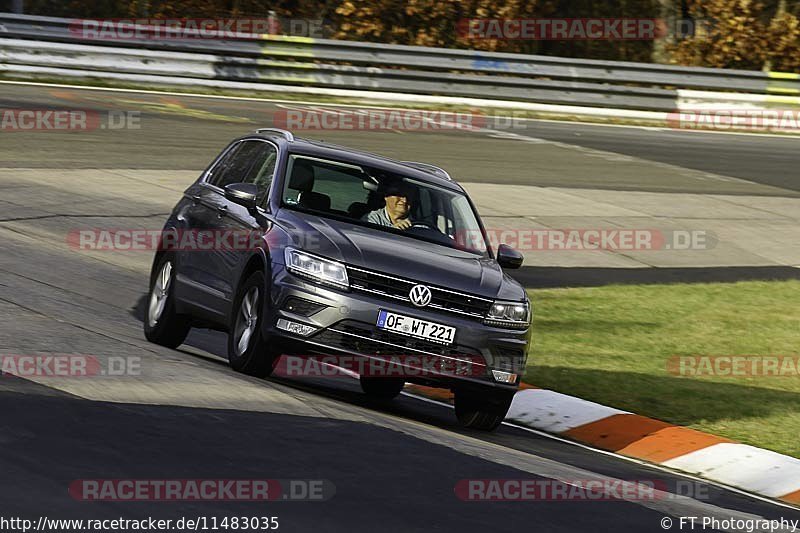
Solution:
<path fill-rule="evenodd" d="M 407 381 L 449 388 L 515 389 L 525 370 L 530 327 L 526 330 L 491 327 L 478 319 L 328 288 L 296 277 L 278 264 L 273 267 L 270 296 L 264 333 L 276 339 L 287 354 L 344 354 L 375 361 L 438 360 L 440 370 L 420 373 L 411 363 L 404 377 Z M 381 309 L 453 326 L 457 329 L 455 341 L 445 346 L 379 329 L 376 323 Z M 290 333 L 276 327 L 279 319 L 317 329 L 308 335 Z M 517 378 L 514 383 L 497 381 L 492 370 L 516 374 Z"/>

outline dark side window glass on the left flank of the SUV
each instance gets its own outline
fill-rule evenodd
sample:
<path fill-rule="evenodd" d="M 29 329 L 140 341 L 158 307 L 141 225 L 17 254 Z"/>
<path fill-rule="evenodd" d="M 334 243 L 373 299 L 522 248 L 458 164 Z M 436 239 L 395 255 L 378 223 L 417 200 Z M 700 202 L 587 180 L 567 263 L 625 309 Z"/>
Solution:
<path fill-rule="evenodd" d="M 231 183 L 254 183 L 258 186 L 258 202 L 266 198 L 272 185 L 278 152 L 264 141 L 242 141 L 234 146 L 211 171 L 207 182 L 224 189 Z"/>

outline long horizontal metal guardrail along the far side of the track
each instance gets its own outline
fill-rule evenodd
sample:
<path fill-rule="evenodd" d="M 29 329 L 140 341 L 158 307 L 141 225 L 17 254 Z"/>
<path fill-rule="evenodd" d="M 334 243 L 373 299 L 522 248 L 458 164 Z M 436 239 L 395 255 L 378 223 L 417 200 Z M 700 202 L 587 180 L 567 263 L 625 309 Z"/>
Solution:
<path fill-rule="evenodd" d="M 800 94 L 797 74 L 330 39 L 90 39 L 80 21 L 0 13 L 3 65 L 672 111 L 679 90 Z M 143 33 L 147 33 L 146 31 Z"/>

